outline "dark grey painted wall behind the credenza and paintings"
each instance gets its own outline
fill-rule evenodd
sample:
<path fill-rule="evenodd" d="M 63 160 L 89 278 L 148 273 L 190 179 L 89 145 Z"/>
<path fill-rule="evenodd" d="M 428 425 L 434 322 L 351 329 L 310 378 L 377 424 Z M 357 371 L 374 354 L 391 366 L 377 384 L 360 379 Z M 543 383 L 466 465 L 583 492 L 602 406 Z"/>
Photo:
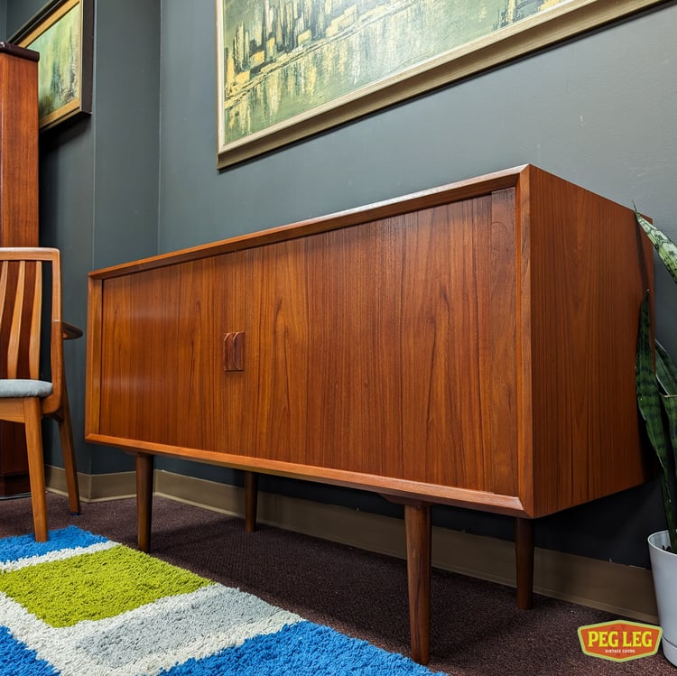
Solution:
<path fill-rule="evenodd" d="M 42 5 L 5 3 L 7 32 Z M 66 288 L 76 323 L 84 326 L 92 267 L 524 162 L 623 204 L 634 200 L 677 237 L 675 2 L 221 172 L 214 24 L 212 2 L 97 2 L 94 114 L 53 134 L 43 149 L 43 236 L 72 264 Z M 674 322 L 661 311 L 672 293 L 662 270 L 657 286 L 657 330 L 677 350 Z M 81 429 L 84 341 L 68 358 Z M 130 467 L 118 451 L 81 439 L 80 458 L 92 473 Z M 238 478 L 179 461 L 159 465 Z M 338 488 L 274 478 L 263 487 L 398 513 L 376 496 Z M 450 508 L 434 514 L 451 527 L 512 535 L 502 517 Z M 536 537 L 544 547 L 646 565 L 645 537 L 662 528 L 659 496 L 649 485 L 544 519 Z"/>

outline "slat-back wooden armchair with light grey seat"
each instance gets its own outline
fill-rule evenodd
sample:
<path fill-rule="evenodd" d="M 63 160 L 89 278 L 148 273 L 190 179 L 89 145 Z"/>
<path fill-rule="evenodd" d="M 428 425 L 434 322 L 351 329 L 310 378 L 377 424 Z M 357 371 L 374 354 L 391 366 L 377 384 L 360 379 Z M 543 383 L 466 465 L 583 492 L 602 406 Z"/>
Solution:
<path fill-rule="evenodd" d="M 44 293 L 43 274 L 48 280 L 51 274 L 51 289 L 46 283 Z M 43 379 L 40 374 L 41 325 L 45 324 L 46 333 L 48 319 L 51 319 L 49 349 L 45 352 L 49 353 L 49 360 L 45 354 L 42 367 L 49 374 L 49 379 Z M 80 511 L 63 371 L 63 339 L 68 337 L 68 331 L 69 325 L 61 320 L 59 250 L 0 248 L 0 420 L 19 422 L 25 426 L 32 517 L 38 542 L 45 542 L 48 532 L 42 456 L 43 417 L 54 418 L 59 424 L 70 512 L 78 514 Z M 47 340 L 44 342 L 46 347 Z"/>

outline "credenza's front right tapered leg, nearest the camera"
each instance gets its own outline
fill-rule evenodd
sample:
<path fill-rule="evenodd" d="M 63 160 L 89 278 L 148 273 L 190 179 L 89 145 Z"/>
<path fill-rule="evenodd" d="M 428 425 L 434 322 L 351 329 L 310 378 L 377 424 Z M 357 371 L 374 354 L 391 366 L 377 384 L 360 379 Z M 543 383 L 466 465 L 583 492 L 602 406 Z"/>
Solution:
<path fill-rule="evenodd" d="M 404 505 L 412 659 L 430 660 L 431 506 Z"/>

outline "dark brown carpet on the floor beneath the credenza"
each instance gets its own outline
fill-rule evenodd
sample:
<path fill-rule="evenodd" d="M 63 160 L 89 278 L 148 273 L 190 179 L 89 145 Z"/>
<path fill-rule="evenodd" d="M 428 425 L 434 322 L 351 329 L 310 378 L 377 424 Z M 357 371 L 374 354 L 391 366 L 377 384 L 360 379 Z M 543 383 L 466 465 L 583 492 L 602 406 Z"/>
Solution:
<path fill-rule="evenodd" d="M 133 499 L 83 505 L 71 517 L 65 497 L 48 495 L 50 528 L 73 523 L 135 546 Z M 0 501 L 0 537 L 32 532 L 27 498 Z M 230 587 L 387 650 L 408 653 L 403 560 L 261 526 L 155 497 L 153 554 Z M 515 590 L 441 570 L 432 576 L 431 669 L 455 676 L 670 674 L 663 653 L 608 662 L 580 650 L 577 630 L 618 619 L 536 596 L 520 611 Z"/>

